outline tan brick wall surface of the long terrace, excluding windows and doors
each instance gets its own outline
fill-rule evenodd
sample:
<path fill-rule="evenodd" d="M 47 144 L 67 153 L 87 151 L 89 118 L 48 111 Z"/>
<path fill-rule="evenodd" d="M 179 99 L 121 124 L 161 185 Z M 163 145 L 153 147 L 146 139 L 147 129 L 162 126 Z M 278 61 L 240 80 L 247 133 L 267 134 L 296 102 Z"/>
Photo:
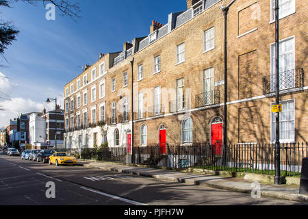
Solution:
<path fill-rule="evenodd" d="M 291 0 L 290 0 L 291 1 Z M 188 1 L 191 4 L 192 1 Z M 214 5 L 208 5 L 209 2 Z M 294 40 L 294 67 L 303 69 L 303 81 L 307 81 L 307 13 L 306 1 L 295 1 L 295 13 L 290 13 L 280 19 L 281 40 L 291 38 Z M 115 144 L 115 130 L 120 131 L 120 145 L 127 144 L 127 134 L 131 131 L 131 60 L 133 60 L 133 112 L 134 114 L 134 145 L 141 145 L 141 127 L 146 125 L 146 143 L 159 142 L 159 127 L 166 127 L 166 142 L 168 144 L 183 144 L 183 122 L 192 119 L 192 141 L 211 142 L 213 136 L 212 123 L 218 119 L 224 121 L 224 16 L 220 5 L 227 5 L 229 1 L 205 1 L 203 12 L 198 14 L 197 8 L 191 8 L 183 13 L 191 13 L 192 18 L 181 21 L 183 13 L 170 14 L 168 24 L 156 30 L 157 38 L 151 41 L 151 35 L 146 38 L 136 38 L 131 44 L 125 43 L 123 52 L 108 53 L 100 57 L 99 61 L 84 70 L 73 81 L 64 86 L 64 94 L 68 88 L 68 96 L 64 100 L 70 107 L 70 99 L 74 99 L 74 110 L 65 112 L 65 118 L 70 120 L 73 116 L 76 125 L 77 112 L 87 110 L 88 123 L 91 119 L 91 110 L 96 109 L 96 121 L 100 120 L 99 106 L 105 105 L 105 122 L 103 127 L 94 125 L 92 129 L 66 131 L 65 137 L 71 137 L 77 142 L 77 136 L 105 130 L 98 140 L 104 142 L 107 137 L 110 146 Z M 196 7 L 200 7 L 196 5 Z M 204 10 L 205 9 L 205 10 Z M 271 44 L 274 42 L 274 25 L 271 21 L 270 1 L 235 1 L 228 15 L 228 140 L 229 142 L 270 142 L 271 113 L 270 106 L 274 103 L 274 94 L 265 92 L 264 77 L 271 75 Z M 177 17 L 176 20 L 172 20 Z M 181 23 L 179 23 L 181 21 Z M 152 24 L 153 25 L 153 24 Z M 168 28 L 167 28 L 168 27 Z M 168 29 L 168 32 L 165 32 Z M 154 31 L 154 29 L 153 29 Z M 155 33 L 155 32 L 154 32 Z M 160 36 L 160 34 L 163 36 Z M 214 34 L 214 47 L 211 37 Z M 208 40 L 205 40 L 205 37 Z M 149 40 L 150 42 L 146 42 Z M 181 53 L 185 57 L 178 60 L 179 45 L 184 45 Z M 130 48 L 131 47 L 131 48 Z M 126 54 L 126 55 L 125 55 Z M 155 57 L 160 56 L 160 71 L 155 72 Z M 120 60 L 120 62 L 118 61 Z M 99 65 L 105 62 L 106 74 L 99 75 Z M 143 79 L 138 78 L 139 67 L 143 67 Z M 95 81 L 91 81 L 92 69 L 97 69 Z M 156 68 L 157 69 L 157 68 Z M 124 85 L 123 74 L 127 73 L 127 86 Z M 297 74 L 298 72 L 296 72 Z M 302 71 L 299 71 L 302 73 Z M 213 74 L 213 75 L 211 75 Z M 88 77 L 88 84 L 78 91 L 70 94 L 70 85 L 77 88 L 77 80 L 83 81 L 84 75 Z M 297 80 L 297 75 L 294 80 Z M 112 79 L 116 81 L 116 89 L 112 92 Z M 181 92 L 183 92 L 183 108 L 179 112 L 177 94 L 177 79 L 181 79 Z M 105 97 L 99 99 L 99 84 L 105 80 Z M 211 86 L 209 86 L 211 83 Z M 155 116 L 154 88 L 160 86 L 159 115 Z M 211 88 L 209 88 L 211 87 Z M 96 101 L 91 101 L 91 89 L 96 88 Z M 83 92 L 88 93 L 88 104 L 83 105 Z M 143 95 L 143 105 L 138 107 L 138 94 Z M 81 95 L 81 107 L 77 108 L 77 95 Z M 281 101 L 295 100 L 295 138 L 293 141 L 307 141 L 307 87 L 305 83 L 287 89 L 281 96 Z M 123 121 L 123 105 L 127 99 L 129 121 Z M 181 102 L 181 101 L 180 101 Z M 116 123 L 112 124 L 112 103 L 116 103 Z M 176 108 L 175 104 L 177 105 Z M 181 106 L 182 107 L 182 106 Z M 138 110 L 143 114 L 138 115 Z M 157 110 L 157 109 L 156 109 Z M 64 119 L 65 119 L 64 118 Z M 81 123 L 83 119 L 81 116 Z M 69 127 L 69 126 L 68 126 Z M 70 128 L 70 127 L 69 127 Z M 74 134 L 75 133 L 75 134 Z M 91 137 L 92 136 L 92 137 Z M 212 143 L 212 142 L 211 142 Z M 88 142 L 86 146 L 92 146 Z M 71 144 L 71 146 L 74 146 Z"/>

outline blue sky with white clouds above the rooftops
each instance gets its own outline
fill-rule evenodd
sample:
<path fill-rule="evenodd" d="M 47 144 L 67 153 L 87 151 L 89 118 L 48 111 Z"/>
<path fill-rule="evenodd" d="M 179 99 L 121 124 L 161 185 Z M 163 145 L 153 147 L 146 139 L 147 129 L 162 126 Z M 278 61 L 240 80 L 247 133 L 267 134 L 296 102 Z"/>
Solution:
<path fill-rule="evenodd" d="M 186 9 L 185 0 L 76 0 L 81 19 L 75 23 L 56 10 L 55 21 L 47 21 L 42 3 L 23 2 L 0 8 L 0 18 L 12 21 L 20 31 L 17 40 L 0 57 L 0 91 L 11 100 L 0 99 L 7 111 L 0 112 L 0 127 L 20 112 L 41 111 L 52 105 L 47 98 L 63 100 L 63 86 L 93 64 L 99 53 L 122 51 L 124 42 L 147 36 L 151 21 L 166 24 L 170 12 Z M 63 103 L 61 103 L 63 106 Z"/>

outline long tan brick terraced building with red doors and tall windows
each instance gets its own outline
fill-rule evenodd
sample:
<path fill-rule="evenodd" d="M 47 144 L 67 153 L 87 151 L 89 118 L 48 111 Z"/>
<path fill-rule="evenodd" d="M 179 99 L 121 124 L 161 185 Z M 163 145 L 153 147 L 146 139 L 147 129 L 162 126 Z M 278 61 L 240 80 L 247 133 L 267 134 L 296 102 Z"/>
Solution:
<path fill-rule="evenodd" d="M 223 141 L 224 14 L 188 0 L 149 36 L 101 54 L 64 86 L 66 148 Z M 308 1 L 280 5 L 281 142 L 307 141 Z M 274 0 L 237 0 L 227 20 L 227 138 L 274 142 Z M 133 69 L 133 89 L 132 89 Z M 131 114 L 133 90 L 133 114 Z M 133 117 L 133 123 L 132 123 Z M 133 124 L 133 127 L 132 127 Z M 133 136 L 132 136 L 133 131 Z"/>

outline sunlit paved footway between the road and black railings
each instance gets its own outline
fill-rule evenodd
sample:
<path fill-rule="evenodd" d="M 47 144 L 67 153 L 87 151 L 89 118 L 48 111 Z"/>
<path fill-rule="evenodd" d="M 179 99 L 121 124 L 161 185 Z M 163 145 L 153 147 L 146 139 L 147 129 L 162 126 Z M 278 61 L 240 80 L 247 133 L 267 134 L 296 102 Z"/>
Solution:
<path fill-rule="evenodd" d="M 176 170 L 160 170 L 156 168 L 128 166 L 109 162 L 79 160 L 79 164 L 86 168 L 120 172 L 123 174 L 138 175 L 142 177 L 151 177 L 164 181 L 179 182 L 188 185 L 199 185 L 232 192 L 244 192 L 254 196 L 260 195 L 263 197 L 308 203 L 308 196 L 299 194 L 298 185 L 272 185 L 240 178 L 196 174 L 192 172 L 179 172 Z"/>

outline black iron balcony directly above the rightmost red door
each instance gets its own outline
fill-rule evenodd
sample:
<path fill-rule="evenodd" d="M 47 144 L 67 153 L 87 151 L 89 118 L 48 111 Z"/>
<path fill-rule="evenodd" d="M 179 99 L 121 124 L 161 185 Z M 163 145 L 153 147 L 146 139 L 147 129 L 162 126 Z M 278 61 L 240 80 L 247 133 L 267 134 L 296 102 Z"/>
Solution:
<path fill-rule="evenodd" d="M 196 108 L 205 107 L 207 105 L 216 105 L 220 103 L 220 91 L 214 90 L 196 95 Z"/>

